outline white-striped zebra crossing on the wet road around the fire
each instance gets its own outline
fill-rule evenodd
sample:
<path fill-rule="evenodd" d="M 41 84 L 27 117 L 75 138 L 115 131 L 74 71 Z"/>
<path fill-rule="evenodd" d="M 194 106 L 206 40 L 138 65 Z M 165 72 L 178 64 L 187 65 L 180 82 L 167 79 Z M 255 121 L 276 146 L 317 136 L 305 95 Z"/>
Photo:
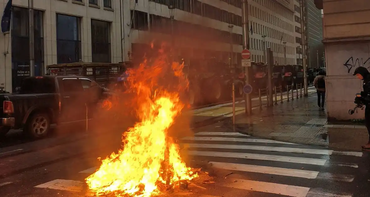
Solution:
<path fill-rule="evenodd" d="M 346 188 L 322 188 L 328 182 L 351 184 L 354 176 L 343 173 L 323 172 L 322 167 L 335 165 L 343 169 L 356 169 L 356 163 L 332 162 L 332 156 L 361 157 L 360 152 L 340 152 L 330 149 L 279 142 L 268 139 L 255 139 L 236 132 L 199 132 L 195 137 L 181 140 L 186 152 L 193 160 L 204 159 L 216 170 L 228 170 L 228 179 L 216 182 L 218 187 L 233 190 L 248 190 L 255 196 L 291 197 L 353 197 Z M 357 166 L 358 167 L 358 166 Z M 82 170 L 79 174 L 92 174 L 97 167 Z M 272 179 L 273 177 L 273 179 Z M 312 181 L 315 180 L 315 181 Z M 66 191 L 81 191 L 83 180 L 56 179 L 37 185 Z M 224 197 L 238 195 L 223 194 Z M 219 193 L 209 191 L 201 197 L 220 197 Z"/>

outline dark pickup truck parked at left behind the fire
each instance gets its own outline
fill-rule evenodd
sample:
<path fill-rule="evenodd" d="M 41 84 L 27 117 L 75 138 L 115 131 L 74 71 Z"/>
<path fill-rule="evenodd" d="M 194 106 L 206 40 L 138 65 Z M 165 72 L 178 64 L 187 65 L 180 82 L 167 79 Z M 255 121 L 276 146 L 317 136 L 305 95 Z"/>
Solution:
<path fill-rule="evenodd" d="M 27 77 L 17 93 L 0 94 L 0 137 L 23 129 L 32 138 L 43 138 L 51 124 L 87 121 L 106 94 L 87 77 Z"/>

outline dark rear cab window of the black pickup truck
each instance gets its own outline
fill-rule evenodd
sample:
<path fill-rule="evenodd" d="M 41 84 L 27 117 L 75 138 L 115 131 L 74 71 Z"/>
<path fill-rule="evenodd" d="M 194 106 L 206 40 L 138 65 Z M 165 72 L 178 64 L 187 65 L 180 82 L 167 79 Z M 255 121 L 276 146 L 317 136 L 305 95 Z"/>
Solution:
<path fill-rule="evenodd" d="M 26 78 L 22 82 L 20 94 L 55 93 L 55 80 L 51 77 Z"/>

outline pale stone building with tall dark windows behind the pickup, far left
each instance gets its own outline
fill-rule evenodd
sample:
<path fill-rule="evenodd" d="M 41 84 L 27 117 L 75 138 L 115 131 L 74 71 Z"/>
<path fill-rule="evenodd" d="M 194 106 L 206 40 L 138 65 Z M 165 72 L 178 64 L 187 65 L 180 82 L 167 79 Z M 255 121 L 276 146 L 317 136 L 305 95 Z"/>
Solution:
<path fill-rule="evenodd" d="M 7 2 L 0 1 L 0 10 Z M 121 61 L 119 1 L 34 0 L 33 6 L 35 75 L 55 63 Z M 7 91 L 30 75 L 28 21 L 28 1 L 13 0 L 10 32 L 0 35 L 0 86 Z"/>

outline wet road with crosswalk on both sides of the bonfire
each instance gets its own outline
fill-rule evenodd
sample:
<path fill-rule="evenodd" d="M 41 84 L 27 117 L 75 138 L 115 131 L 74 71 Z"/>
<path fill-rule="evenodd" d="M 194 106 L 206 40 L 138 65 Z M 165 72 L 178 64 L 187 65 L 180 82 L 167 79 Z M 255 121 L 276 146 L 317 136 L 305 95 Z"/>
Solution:
<path fill-rule="evenodd" d="M 189 188 L 187 196 L 370 196 L 367 152 L 258 139 L 222 123 L 194 131 L 194 137 L 181 140 L 184 158 L 191 166 L 202 166 L 215 183 L 200 185 L 206 190 Z M 37 150 L 14 146 L 14 152 L 4 153 L 0 149 L 0 196 L 85 196 L 84 179 L 99 165 L 97 157 L 120 147 L 119 136 L 87 136 Z"/>

